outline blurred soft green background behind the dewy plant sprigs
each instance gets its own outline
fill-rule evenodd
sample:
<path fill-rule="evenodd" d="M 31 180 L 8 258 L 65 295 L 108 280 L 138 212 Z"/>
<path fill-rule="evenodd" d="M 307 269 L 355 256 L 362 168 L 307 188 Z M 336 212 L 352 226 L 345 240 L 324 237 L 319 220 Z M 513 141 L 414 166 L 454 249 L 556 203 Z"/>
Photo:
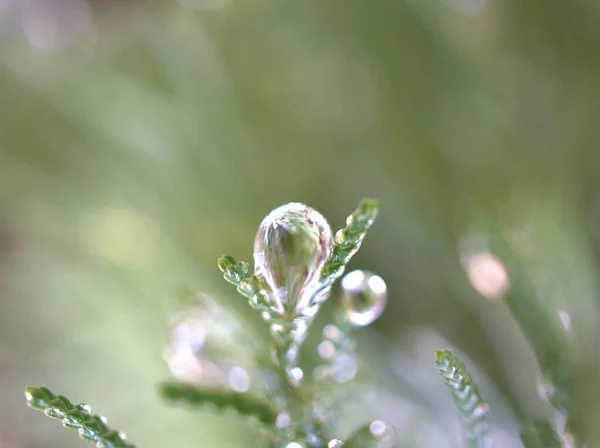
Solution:
<path fill-rule="evenodd" d="M 379 398 L 341 431 L 379 417 L 398 446 L 460 446 L 432 364 L 454 347 L 496 446 L 520 446 L 517 421 L 550 411 L 464 248 L 506 226 L 598 372 L 599 49 L 583 0 L 0 2 L 0 447 L 85 445 L 26 408 L 28 384 L 140 447 L 259 446 L 252 423 L 157 398 L 171 298 L 208 293 L 266 338 L 216 259 L 251 260 L 278 205 L 338 228 L 363 196 L 381 213 L 350 267 L 390 303 L 359 341 Z"/>

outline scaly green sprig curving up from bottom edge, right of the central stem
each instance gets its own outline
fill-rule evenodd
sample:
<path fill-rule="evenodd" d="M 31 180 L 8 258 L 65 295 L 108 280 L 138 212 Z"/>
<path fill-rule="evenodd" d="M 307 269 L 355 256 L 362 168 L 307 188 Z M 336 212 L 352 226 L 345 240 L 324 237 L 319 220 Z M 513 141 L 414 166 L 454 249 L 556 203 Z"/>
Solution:
<path fill-rule="evenodd" d="M 479 388 L 467 372 L 465 365 L 450 350 L 436 350 L 435 367 L 444 378 L 446 385 L 450 387 L 466 431 L 467 446 L 469 448 L 491 446 L 486 420 L 489 406 L 481 397 Z"/>

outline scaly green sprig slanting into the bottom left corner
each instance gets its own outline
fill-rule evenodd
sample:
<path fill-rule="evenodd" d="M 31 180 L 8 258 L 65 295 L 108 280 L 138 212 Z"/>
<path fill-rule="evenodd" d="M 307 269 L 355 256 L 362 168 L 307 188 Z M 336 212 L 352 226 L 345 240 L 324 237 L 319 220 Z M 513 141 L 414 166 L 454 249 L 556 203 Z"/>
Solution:
<path fill-rule="evenodd" d="M 27 387 L 25 398 L 30 408 L 43 411 L 48 417 L 61 420 L 66 428 L 76 429 L 82 439 L 96 443 L 98 448 L 135 448 L 124 436 L 106 426 L 106 419 L 90 414 L 85 404 L 73 404 L 45 387 Z"/>

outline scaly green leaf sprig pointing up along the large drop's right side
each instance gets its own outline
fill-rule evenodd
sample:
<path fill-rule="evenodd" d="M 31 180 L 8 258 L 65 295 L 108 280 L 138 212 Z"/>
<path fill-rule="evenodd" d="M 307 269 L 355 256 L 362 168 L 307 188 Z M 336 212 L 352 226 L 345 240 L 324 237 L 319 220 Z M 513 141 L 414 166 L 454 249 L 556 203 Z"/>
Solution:
<path fill-rule="evenodd" d="M 331 256 L 323 268 L 322 280 L 333 283 L 343 273 L 352 256 L 360 249 L 360 245 L 375 222 L 379 212 L 379 202 L 376 199 L 365 198 L 356 210 L 346 219 L 346 227 L 335 234 L 335 243 Z"/>

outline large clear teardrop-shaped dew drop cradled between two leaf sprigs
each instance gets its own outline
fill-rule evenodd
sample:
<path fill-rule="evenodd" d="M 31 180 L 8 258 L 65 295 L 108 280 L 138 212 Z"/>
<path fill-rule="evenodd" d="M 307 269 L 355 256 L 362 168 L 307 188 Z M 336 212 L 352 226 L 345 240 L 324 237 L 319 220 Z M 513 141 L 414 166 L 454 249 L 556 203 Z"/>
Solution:
<path fill-rule="evenodd" d="M 275 312 L 316 312 L 324 299 L 320 277 L 332 244 L 325 218 L 304 204 L 283 205 L 263 220 L 254 241 L 255 274 L 270 289 Z"/>

